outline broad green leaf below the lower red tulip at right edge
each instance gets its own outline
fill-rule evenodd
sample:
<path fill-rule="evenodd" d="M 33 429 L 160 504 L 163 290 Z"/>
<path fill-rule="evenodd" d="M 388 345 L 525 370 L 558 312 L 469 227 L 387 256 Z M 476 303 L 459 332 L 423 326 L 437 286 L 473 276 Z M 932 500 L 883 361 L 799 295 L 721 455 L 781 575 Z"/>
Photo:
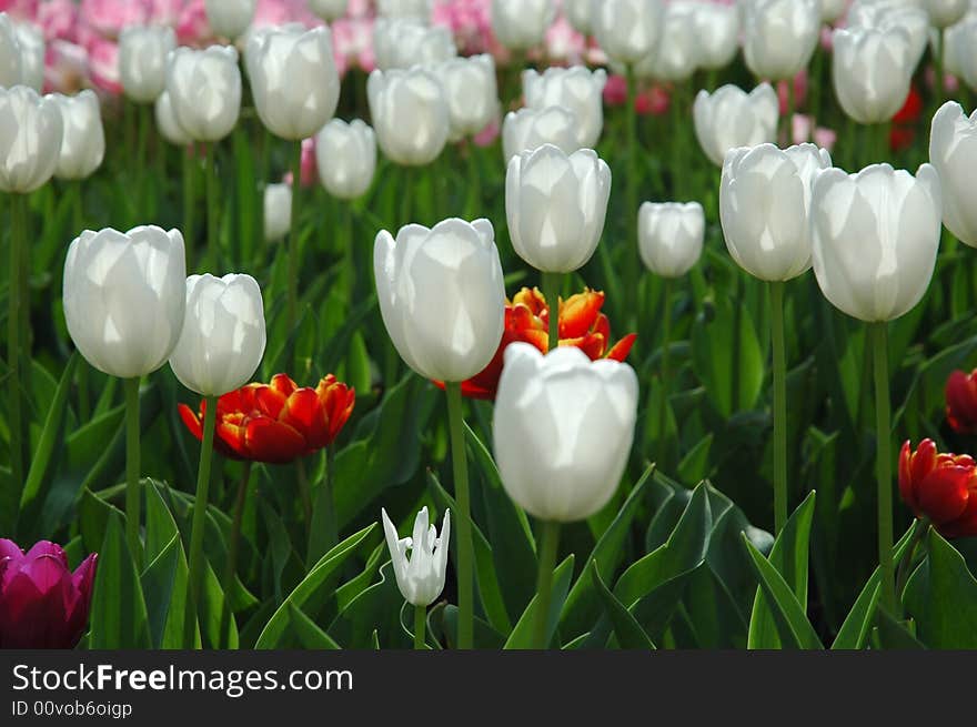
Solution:
<path fill-rule="evenodd" d="M 929 648 L 977 648 L 977 580 L 964 556 L 936 529 L 927 535 L 927 558 L 909 578 L 903 600 Z"/>

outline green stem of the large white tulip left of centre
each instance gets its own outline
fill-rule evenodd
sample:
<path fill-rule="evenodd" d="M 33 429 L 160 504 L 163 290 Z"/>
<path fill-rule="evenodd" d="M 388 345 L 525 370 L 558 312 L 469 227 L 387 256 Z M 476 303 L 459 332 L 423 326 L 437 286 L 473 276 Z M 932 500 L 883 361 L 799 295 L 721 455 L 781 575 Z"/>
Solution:
<path fill-rule="evenodd" d="M 454 499 L 457 507 L 457 594 L 459 636 L 461 649 L 472 648 L 474 640 L 474 546 L 472 542 L 469 463 L 465 453 L 465 418 L 462 410 L 462 385 L 445 382 L 447 425 L 451 432 L 451 464 L 454 471 Z"/>

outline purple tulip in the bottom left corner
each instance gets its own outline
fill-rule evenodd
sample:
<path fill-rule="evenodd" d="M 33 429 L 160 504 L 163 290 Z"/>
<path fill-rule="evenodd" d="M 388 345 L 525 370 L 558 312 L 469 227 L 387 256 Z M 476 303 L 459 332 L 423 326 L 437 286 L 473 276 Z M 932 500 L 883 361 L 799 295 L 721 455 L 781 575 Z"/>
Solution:
<path fill-rule="evenodd" d="M 88 624 L 98 554 L 72 574 L 60 545 L 0 538 L 0 648 L 73 648 Z"/>

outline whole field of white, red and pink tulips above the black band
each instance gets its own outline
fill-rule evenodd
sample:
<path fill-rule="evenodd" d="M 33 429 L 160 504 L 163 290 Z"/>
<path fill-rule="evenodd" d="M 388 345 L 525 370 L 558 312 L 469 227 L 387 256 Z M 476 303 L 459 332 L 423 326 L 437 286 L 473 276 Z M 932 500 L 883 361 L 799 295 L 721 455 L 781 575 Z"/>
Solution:
<path fill-rule="evenodd" d="M 977 1 L 0 0 L 0 647 L 977 648 Z"/>

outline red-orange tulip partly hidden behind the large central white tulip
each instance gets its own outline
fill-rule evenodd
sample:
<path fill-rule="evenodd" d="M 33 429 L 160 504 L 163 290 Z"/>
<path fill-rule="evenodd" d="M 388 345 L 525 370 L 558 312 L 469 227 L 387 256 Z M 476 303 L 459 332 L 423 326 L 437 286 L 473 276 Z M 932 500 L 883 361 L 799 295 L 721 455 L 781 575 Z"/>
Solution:
<path fill-rule="evenodd" d="M 560 345 L 576 346 L 592 361 L 624 361 L 637 334 L 629 334 L 608 350 L 611 322 L 601 313 L 604 293 L 585 290 L 560 301 Z M 510 343 L 530 343 L 543 353 L 550 347 L 550 309 L 537 289 L 524 287 L 505 305 L 505 330 L 495 356 L 479 374 L 462 382 L 462 393 L 471 398 L 495 398 L 505 349 Z M 441 385 L 439 383 L 439 385 Z"/>

